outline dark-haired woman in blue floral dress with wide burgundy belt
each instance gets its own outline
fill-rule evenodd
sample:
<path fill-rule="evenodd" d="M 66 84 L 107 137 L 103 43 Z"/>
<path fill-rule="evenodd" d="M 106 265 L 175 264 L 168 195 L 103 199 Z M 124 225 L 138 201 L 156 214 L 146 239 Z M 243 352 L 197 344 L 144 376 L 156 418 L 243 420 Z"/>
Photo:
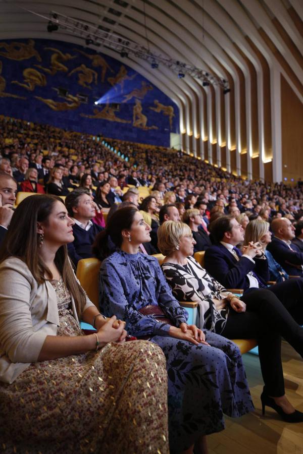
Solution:
<path fill-rule="evenodd" d="M 138 252 L 150 241 L 149 232 L 140 212 L 126 207 L 98 234 L 94 253 L 100 259 L 109 253 L 109 238 L 119 248 L 100 268 L 100 307 L 123 316 L 132 335 L 165 353 L 171 452 L 192 452 L 195 442 L 195 452 L 205 452 L 205 435 L 224 428 L 223 412 L 236 417 L 253 409 L 241 354 L 232 342 L 186 323 L 188 314 L 172 296 L 158 260 Z"/>

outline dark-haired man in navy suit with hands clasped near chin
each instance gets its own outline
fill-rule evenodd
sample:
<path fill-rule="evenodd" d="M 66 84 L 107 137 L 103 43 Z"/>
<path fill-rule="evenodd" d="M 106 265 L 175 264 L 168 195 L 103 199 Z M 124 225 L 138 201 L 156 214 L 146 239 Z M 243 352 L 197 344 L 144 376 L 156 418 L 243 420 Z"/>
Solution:
<path fill-rule="evenodd" d="M 217 244 L 205 252 L 207 271 L 227 289 L 247 291 L 268 288 L 283 306 L 303 323 L 303 279 L 289 279 L 267 287 L 268 263 L 265 255 L 258 249 L 258 244 L 243 246 L 243 254 L 236 247 L 244 240 L 244 231 L 237 220 L 230 215 L 221 216 L 213 222 L 211 231 Z"/>

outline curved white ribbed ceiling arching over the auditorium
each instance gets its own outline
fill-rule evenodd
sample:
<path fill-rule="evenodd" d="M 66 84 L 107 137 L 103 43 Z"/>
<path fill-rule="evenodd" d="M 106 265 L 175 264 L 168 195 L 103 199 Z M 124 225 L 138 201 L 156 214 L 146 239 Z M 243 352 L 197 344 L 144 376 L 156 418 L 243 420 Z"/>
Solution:
<path fill-rule="evenodd" d="M 277 68 L 303 102 L 302 0 L 0 0 L 0 39 L 51 37 L 85 45 L 85 39 L 64 29 L 59 28 L 52 34 L 47 32 L 52 11 L 101 26 L 155 53 L 228 80 L 234 90 L 232 102 L 238 129 L 235 147 L 239 153 L 243 149 L 239 124 L 244 97 L 246 148 L 250 156 L 254 154 L 249 135 L 254 102 L 252 84 L 255 79 L 261 105 L 264 65 L 268 65 L 270 71 Z M 201 141 L 206 136 L 212 140 L 212 130 L 208 128 L 206 133 L 199 119 L 205 113 L 205 104 L 210 104 L 211 96 L 216 98 L 217 109 L 220 109 L 223 98 L 220 87 L 203 87 L 201 80 L 188 75 L 178 79 L 175 72 L 163 65 L 152 69 L 148 62 L 135 56 L 122 59 L 120 53 L 112 49 L 90 47 L 125 62 L 178 104 L 187 150 L 193 147 L 195 154 L 196 145 L 189 139 L 192 135 Z M 261 138 L 262 111 L 258 105 Z M 220 119 L 219 129 L 218 121 L 215 123 L 219 140 Z M 259 145 L 260 156 L 264 157 L 262 140 Z"/>

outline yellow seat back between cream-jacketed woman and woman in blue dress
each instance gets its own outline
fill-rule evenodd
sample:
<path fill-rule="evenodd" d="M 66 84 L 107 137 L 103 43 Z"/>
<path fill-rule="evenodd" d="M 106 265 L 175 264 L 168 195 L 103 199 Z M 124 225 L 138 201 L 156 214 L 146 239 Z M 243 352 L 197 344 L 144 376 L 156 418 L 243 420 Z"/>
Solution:
<path fill-rule="evenodd" d="M 81 259 L 77 266 L 77 278 L 81 286 L 85 290 L 90 301 L 99 308 L 99 269 L 100 260 L 92 257 L 88 259 Z"/>

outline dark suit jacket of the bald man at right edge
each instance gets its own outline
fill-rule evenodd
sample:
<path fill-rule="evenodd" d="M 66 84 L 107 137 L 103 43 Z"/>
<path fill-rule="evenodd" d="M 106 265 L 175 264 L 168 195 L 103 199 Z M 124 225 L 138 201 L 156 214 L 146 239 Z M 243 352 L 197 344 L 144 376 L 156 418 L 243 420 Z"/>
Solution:
<path fill-rule="evenodd" d="M 300 265 L 303 264 L 303 252 L 300 252 L 299 248 L 293 243 L 290 247 L 292 250 L 289 249 L 284 241 L 274 237 L 267 249 L 282 268 L 285 269 L 287 274 L 302 277 L 303 272 Z"/>

